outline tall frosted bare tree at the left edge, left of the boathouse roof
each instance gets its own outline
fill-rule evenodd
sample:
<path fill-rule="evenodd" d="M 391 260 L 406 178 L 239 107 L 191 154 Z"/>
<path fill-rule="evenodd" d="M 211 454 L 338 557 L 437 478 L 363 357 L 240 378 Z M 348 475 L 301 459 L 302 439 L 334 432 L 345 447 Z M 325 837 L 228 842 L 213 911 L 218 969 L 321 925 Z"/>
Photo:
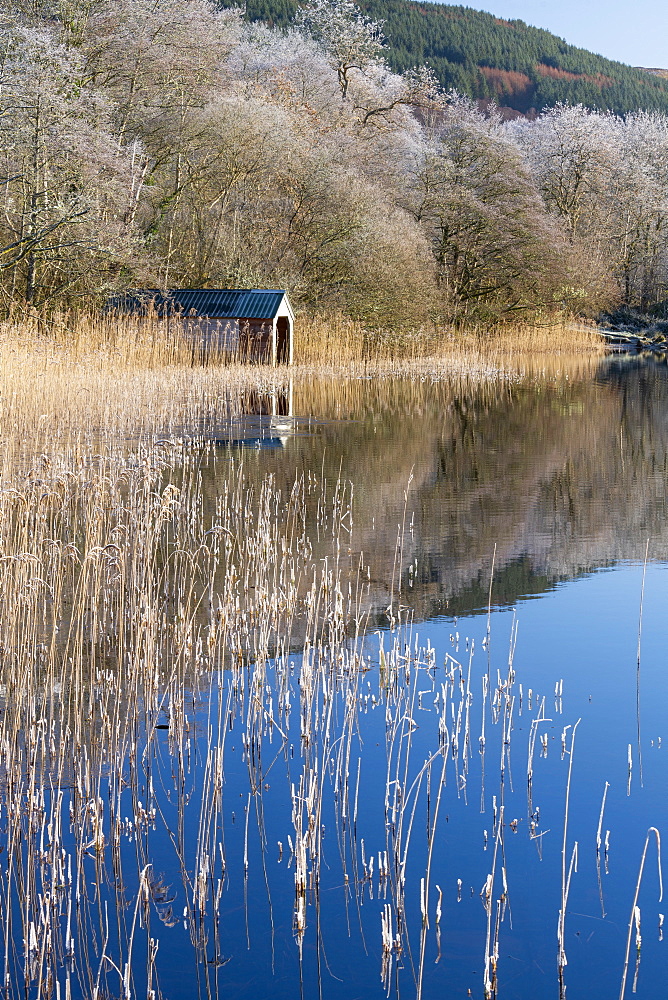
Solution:
<path fill-rule="evenodd" d="M 8 300 L 90 291 L 132 245 L 143 163 L 110 102 L 49 27 L 6 32 L 0 73 L 0 278 Z"/>

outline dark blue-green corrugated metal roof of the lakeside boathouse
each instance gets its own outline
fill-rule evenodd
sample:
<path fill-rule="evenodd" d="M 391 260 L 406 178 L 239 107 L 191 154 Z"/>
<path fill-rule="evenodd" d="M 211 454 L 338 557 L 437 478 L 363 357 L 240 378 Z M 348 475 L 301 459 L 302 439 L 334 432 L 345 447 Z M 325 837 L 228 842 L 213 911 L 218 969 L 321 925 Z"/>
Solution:
<path fill-rule="evenodd" d="M 168 292 L 146 288 L 115 296 L 109 308 L 130 312 L 152 307 L 167 316 L 180 313 L 217 319 L 273 320 L 284 296 L 284 291 L 275 288 L 174 288 Z"/>

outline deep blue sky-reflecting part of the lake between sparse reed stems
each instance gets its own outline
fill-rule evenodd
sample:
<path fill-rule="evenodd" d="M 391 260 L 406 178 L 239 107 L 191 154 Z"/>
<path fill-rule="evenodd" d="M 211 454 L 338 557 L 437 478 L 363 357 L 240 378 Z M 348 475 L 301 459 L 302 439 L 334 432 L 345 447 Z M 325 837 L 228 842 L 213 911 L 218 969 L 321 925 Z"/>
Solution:
<path fill-rule="evenodd" d="M 668 671 L 666 669 L 666 615 L 668 569 L 650 565 L 645 581 L 641 648 L 642 780 L 637 747 L 636 680 L 638 605 L 642 565 L 622 565 L 573 583 L 560 584 L 540 600 L 519 600 L 514 612 L 491 616 L 491 670 L 505 672 L 511 632 L 516 623 L 514 669 L 516 688 L 522 685 L 523 704 L 515 707 L 509 764 L 504 788 L 499 783 L 500 727 L 488 718 L 485 752 L 485 788 L 482 788 L 478 734 L 481 721 L 480 679 L 487 671 L 482 650 L 487 621 L 484 616 L 434 619 L 417 627 L 421 640 L 430 640 L 436 652 L 432 672 L 438 687 L 447 655 L 466 667 L 467 638 L 474 640 L 471 706 L 473 753 L 465 794 L 457 787 L 455 768 L 449 765 L 447 785 L 435 836 L 433 885 L 443 891 L 440 920 L 440 957 L 434 926 L 427 936 L 422 995 L 425 997 L 483 996 L 486 914 L 481 889 L 491 870 L 493 797 L 505 807 L 505 869 L 508 909 L 500 932 L 498 995 L 512 998 L 559 995 L 556 975 L 556 931 L 561 892 L 561 850 L 568 754 L 562 758 L 565 726 L 581 720 L 575 743 L 568 826 L 568 857 L 578 843 L 577 872 L 572 876 L 566 918 L 565 979 L 570 995 L 610 996 L 619 989 L 631 913 L 645 836 L 650 826 L 668 829 L 666 777 L 668 763 Z M 453 632 L 453 630 L 455 630 Z M 451 636 L 459 633 L 459 655 Z M 463 654 L 463 655 L 462 655 Z M 451 662 L 451 661 L 449 661 Z M 298 671 L 298 665 L 295 667 Z M 563 681 L 561 699 L 555 684 Z M 377 676 L 369 678 L 379 695 Z M 425 677 L 420 688 L 429 690 Z M 531 704 L 529 706 L 529 689 Z M 547 755 L 538 749 L 534 759 L 533 807 L 540 810 L 538 841 L 527 826 L 527 756 L 531 720 L 537 699 L 545 696 L 541 727 L 548 737 Z M 516 693 L 516 697 L 519 695 Z M 380 695 L 379 695 L 380 698 Z M 413 772 L 438 745 L 433 698 L 422 697 L 412 749 Z M 319 892 L 308 893 L 307 927 L 302 956 L 293 929 L 294 874 L 286 864 L 286 837 L 291 830 L 290 783 L 301 770 L 294 758 L 282 755 L 268 768 L 262 795 L 266 850 L 261 847 L 257 816 L 251 807 L 249 870 L 244 876 L 244 810 L 248 770 L 241 760 L 238 732 L 229 733 L 226 753 L 225 845 L 228 883 L 219 909 L 221 957 L 218 973 L 224 995 L 252 997 L 382 996 L 381 911 L 391 898 L 377 877 L 358 886 L 345 885 L 334 810 L 326 809 L 324 870 Z M 361 794 L 357 819 L 357 852 L 364 840 L 367 857 L 386 845 L 384 785 L 386 725 L 381 708 L 362 713 L 359 720 Z M 570 747 L 570 730 L 567 736 Z M 298 748 L 298 738 L 295 737 Z M 629 788 L 628 748 L 632 753 Z M 276 745 L 275 750 L 279 749 Z M 266 753 L 266 748 L 265 748 Z M 272 757 L 274 754 L 271 755 Z M 270 761 L 271 763 L 271 761 Z M 605 783 L 609 782 L 602 836 L 609 831 L 607 854 L 601 849 L 597 876 L 596 833 Z M 331 796 L 332 790 L 329 789 Z M 327 796 L 326 796 L 327 798 Z M 424 795 L 423 795 L 424 800 Z M 417 952 L 421 931 L 420 878 L 424 874 L 427 838 L 421 801 L 418 827 L 413 833 L 406 876 L 408 939 Z M 481 800 L 484 812 L 481 812 Z M 516 827 L 511 826 L 511 822 Z M 516 832 L 514 832 L 516 830 Z M 191 842 L 196 830 L 189 830 Z M 159 838 L 156 838 L 156 841 Z M 279 861 L 277 842 L 284 855 Z M 540 849 L 539 849 L 540 845 Z M 154 843 L 154 864 L 160 871 L 174 868 L 168 845 Z M 361 857 L 361 855 L 360 855 Z M 376 866 L 377 867 L 377 866 Z M 656 995 L 664 964 L 660 941 L 656 851 L 651 845 L 641 887 L 642 961 L 639 996 Z M 352 882 L 352 872 L 351 882 Z M 461 887 L 458 888 L 458 880 Z M 502 892 L 497 873 L 495 900 Z M 180 906 L 181 893 L 177 891 Z M 188 932 L 178 924 L 163 939 L 172 958 L 180 954 L 180 972 L 168 969 L 165 995 L 187 995 L 195 965 Z M 635 962 L 635 931 L 631 951 L 631 989 Z M 398 960 L 392 990 L 414 996 L 417 955 L 406 951 Z M 396 976 L 396 979 L 395 979 Z"/>

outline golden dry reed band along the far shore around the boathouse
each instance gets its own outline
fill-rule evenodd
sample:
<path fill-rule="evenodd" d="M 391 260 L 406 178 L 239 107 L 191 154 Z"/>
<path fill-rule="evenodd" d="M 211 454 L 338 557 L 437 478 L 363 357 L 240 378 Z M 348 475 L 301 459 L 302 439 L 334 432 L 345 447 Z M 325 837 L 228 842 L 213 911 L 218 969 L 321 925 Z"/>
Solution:
<path fill-rule="evenodd" d="M 518 328 L 515 335 L 494 338 L 432 338 L 435 353 L 429 356 L 385 350 L 382 344 L 369 354 L 358 349 L 365 336 L 359 324 L 337 318 L 304 321 L 301 336 L 302 363 L 288 372 L 241 365 L 234 358 L 221 367 L 220 359 L 198 358 L 178 331 L 167 335 L 164 325 L 150 318 L 56 315 L 48 326 L 39 315 L 5 321 L 0 324 L 0 481 L 11 480 L 15 465 L 25 472 L 27 462 L 76 465 L 100 452 L 103 437 L 105 448 L 113 443 L 126 449 L 128 441 L 193 437 L 202 427 L 220 428 L 243 407 L 244 392 L 289 381 L 307 385 L 308 392 L 314 376 L 321 386 L 341 376 L 493 382 L 582 368 L 601 349 L 595 335 L 568 327 Z"/>

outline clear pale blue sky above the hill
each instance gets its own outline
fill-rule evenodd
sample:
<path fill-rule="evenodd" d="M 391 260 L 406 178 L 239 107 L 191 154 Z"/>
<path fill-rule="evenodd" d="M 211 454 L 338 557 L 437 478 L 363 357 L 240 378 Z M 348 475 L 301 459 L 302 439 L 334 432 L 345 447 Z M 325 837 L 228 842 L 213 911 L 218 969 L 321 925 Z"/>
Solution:
<path fill-rule="evenodd" d="M 668 0 L 449 0 L 565 38 L 631 66 L 668 69 Z"/>

